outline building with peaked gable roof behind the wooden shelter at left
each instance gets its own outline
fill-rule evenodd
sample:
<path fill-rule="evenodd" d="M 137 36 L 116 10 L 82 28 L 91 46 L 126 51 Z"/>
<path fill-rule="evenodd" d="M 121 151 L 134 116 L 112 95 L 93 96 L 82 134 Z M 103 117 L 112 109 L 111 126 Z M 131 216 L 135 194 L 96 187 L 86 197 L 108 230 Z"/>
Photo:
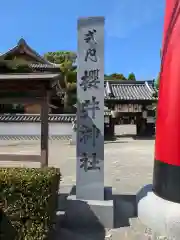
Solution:
<path fill-rule="evenodd" d="M 44 57 L 40 56 L 34 49 L 32 49 L 24 39 L 20 39 L 17 45 L 11 48 L 6 53 L 0 55 L 0 57 L 6 62 L 10 62 L 11 60 L 16 60 L 23 66 L 23 73 L 47 73 L 47 74 L 55 74 L 60 73 L 60 66 L 58 64 L 50 63 Z M 18 70 L 14 70 L 18 73 Z M 2 63 L 0 66 L 0 74 L 8 74 L 8 70 L 2 67 Z M 21 71 L 22 73 L 22 71 Z M 63 84 L 62 79 L 59 79 L 59 83 Z M 49 113 L 63 111 L 63 103 L 62 98 L 59 97 L 61 94 L 63 86 L 60 87 L 55 82 L 53 86 L 53 92 L 51 94 L 51 104 L 49 105 Z M 56 104 L 58 100 L 58 103 Z M 53 104 L 55 102 L 55 104 Z M 37 114 L 40 112 L 40 106 L 38 104 L 26 104 L 22 105 L 12 104 L 12 105 L 4 105 L 0 106 L 0 113 L 28 113 L 28 114 Z"/>

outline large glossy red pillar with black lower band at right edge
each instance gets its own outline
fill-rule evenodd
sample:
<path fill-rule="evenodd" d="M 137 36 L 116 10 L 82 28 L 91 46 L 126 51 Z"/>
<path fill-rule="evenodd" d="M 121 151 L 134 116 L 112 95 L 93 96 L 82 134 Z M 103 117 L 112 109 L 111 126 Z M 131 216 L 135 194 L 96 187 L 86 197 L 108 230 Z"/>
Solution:
<path fill-rule="evenodd" d="M 180 0 L 166 0 L 153 191 L 180 203 Z"/>

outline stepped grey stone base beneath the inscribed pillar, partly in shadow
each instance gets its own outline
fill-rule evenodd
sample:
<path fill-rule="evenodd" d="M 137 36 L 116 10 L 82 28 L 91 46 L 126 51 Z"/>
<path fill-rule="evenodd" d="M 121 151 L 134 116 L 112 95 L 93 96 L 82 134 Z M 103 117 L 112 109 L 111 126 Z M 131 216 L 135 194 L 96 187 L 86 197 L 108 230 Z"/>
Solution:
<path fill-rule="evenodd" d="M 58 205 L 59 210 L 65 212 L 62 221 L 66 226 L 114 228 L 112 188 L 104 188 L 105 200 L 102 201 L 77 199 L 75 186 L 61 186 L 60 194 Z M 57 215 L 60 215 L 59 211 Z"/>

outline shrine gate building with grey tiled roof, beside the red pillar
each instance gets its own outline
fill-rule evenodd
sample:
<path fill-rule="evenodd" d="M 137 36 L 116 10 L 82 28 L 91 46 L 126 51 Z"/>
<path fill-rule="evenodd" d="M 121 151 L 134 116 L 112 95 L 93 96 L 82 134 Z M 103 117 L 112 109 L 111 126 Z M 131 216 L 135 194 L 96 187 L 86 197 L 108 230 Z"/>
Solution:
<path fill-rule="evenodd" d="M 154 81 L 105 81 L 105 104 L 116 124 L 136 124 L 138 135 L 155 133 Z"/>

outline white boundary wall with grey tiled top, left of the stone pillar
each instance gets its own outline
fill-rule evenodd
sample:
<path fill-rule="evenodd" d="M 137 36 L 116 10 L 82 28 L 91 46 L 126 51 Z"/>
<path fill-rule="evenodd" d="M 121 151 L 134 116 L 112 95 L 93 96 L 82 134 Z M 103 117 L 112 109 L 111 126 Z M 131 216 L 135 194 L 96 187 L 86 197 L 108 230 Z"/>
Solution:
<path fill-rule="evenodd" d="M 105 117 L 109 119 L 109 112 Z M 49 114 L 49 137 L 72 138 L 76 114 Z M 105 118 L 105 120 L 106 120 Z M 39 138 L 41 135 L 39 114 L 0 114 L 0 139 Z"/>

